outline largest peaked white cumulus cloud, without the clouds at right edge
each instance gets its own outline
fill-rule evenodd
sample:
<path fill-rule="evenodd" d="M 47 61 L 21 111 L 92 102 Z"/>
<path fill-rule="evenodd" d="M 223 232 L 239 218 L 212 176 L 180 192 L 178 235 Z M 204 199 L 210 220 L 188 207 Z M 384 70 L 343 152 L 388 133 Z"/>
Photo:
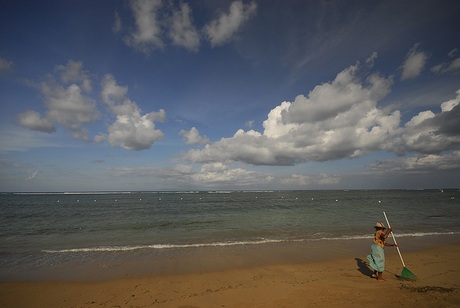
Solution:
<path fill-rule="evenodd" d="M 399 111 L 377 108 L 390 91 L 391 78 L 358 77 L 359 65 L 309 95 L 283 102 L 268 114 L 262 133 L 238 130 L 184 158 L 192 162 L 239 161 L 254 165 L 294 165 L 352 158 L 389 147 L 399 127 Z"/>

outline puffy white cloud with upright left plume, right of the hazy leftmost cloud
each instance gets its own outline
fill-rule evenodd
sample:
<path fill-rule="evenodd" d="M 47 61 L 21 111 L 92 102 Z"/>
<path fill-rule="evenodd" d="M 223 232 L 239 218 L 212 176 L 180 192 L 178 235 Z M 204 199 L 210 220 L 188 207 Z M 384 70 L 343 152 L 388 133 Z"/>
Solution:
<path fill-rule="evenodd" d="M 165 120 L 163 109 L 143 115 L 138 105 L 127 97 L 128 88 L 118 85 L 111 75 L 105 75 L 101 85 L 102 101 L 116 117 L 107 134 L 112 146 L 144 150 L 163 138 L 163 132 L 155 129 L 155 122 Z M 103 139 L 103 135 L 97 137 Z"/>

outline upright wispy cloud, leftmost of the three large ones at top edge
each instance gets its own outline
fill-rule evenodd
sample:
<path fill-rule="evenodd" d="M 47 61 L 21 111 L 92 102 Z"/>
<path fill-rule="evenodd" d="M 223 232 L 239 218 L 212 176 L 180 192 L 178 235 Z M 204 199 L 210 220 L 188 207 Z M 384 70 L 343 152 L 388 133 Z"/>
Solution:
<path fill-rule="evenodd" d="M 158 10 L 161 0 L 131 0 L 130 7 L 136 23 L 136 31 L 125 37 L 125 43 L 144 53 L 163 48 Z"/>

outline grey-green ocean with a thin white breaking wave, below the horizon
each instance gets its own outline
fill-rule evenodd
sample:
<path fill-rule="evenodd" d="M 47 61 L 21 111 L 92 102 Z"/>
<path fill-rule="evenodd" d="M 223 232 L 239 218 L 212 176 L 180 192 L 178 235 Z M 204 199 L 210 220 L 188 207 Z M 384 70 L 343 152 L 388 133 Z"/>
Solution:
<path fill-rule="evenodd" d="M 0 280 L 212 247 L 366 239 L 386 225 L 383 211 L 398 238 L 460 235 L 459 190 L 3 193 Z"/>

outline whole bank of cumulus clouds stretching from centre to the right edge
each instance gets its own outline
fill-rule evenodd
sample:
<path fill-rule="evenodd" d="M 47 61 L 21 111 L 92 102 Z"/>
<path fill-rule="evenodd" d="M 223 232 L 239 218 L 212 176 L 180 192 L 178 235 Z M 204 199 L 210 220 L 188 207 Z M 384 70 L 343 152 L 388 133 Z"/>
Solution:
<path fill-rule="evenodd" d="M 194 163 L 243 162 L 295 165 L 356 158 L 374 151 L 435 154 L 460 146 L 460 91 L 441 112 L 421 111 L 401 125 L 401 112 L 379 108 L 392 78 L 362 76 L 360 64 L 344 69 L 307 96 L 282 102 L 263 122 L 263 131 L 239 129 L 232 137 L 184 154 Z"/>

